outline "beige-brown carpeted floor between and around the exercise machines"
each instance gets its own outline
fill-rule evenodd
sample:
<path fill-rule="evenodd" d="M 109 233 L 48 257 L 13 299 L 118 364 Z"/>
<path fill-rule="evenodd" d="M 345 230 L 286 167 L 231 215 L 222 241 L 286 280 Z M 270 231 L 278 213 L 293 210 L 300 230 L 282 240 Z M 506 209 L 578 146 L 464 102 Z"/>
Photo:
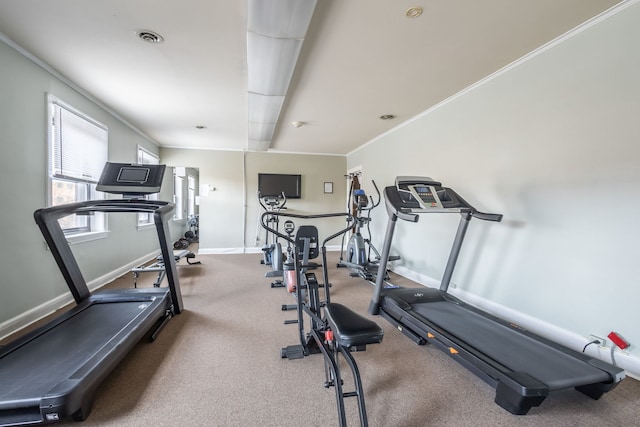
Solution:
<path fill-rule="evenodd" d="M 270 287 L 260 257 L 198 255 L 201 265 L 180 265 L 185 311 L 116 368 L 82 425 L 337 425 L 322 357 L 280 357 L 281 347 L 297 344 L 296 326 L 283 324 L 295 312 L 280 309 L 293 298 Z M 332 301 L 366 314 L 371 285 L 335 268 L 337 257 L 330 253 Z M 145 274 L 138 283 L 154 280 Z M 133 277 L 109 286 L 133 286 Z M 633 379 L 598 401 L 575 390 L 556 392 L 528 415 L 515 416 L 493 402 L 492 387 L 440 350 L 417 346 L 372 318 L 384 328 L 384 341 L 355 353 L 371 426 L 640 425 L 640 382 Z M 346 402 L 349 424 L 358 425 L 355 401 Z"/>

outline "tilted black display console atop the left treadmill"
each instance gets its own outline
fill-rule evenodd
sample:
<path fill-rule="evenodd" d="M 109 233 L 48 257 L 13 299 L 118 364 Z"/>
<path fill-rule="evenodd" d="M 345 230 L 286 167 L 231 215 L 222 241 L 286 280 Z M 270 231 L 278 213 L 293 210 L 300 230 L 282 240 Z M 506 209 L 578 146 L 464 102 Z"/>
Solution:
<path fill-rule="evenodd" d="M 105 164 L 96 190 L 114 194 L 151 194 L 160 191 L 165 165 Z"/>

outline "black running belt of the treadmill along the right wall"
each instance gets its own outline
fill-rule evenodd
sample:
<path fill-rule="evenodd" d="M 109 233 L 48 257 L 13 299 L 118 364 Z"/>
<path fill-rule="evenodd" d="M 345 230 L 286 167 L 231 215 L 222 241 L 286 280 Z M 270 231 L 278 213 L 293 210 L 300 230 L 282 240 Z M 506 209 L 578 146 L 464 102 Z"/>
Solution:
<path fill-rule="evenodd" d="M 527 373 L 550 390 L 611 380 L 601 369 L 463 306 L 438 301 L 413 304 L 412 308 L 468 346 L 514 372 Z"/>

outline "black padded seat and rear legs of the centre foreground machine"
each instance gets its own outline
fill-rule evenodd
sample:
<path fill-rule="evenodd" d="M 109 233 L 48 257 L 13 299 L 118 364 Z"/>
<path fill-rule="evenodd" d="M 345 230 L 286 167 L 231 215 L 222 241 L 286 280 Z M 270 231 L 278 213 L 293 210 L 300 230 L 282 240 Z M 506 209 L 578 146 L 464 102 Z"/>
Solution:
<path fill-rule="evenodd" d="M 364 391 L 362 380 L 352 351 L 364 351 L 368 344 L 378 344 L 384 337 L 383 329 L 372 320 L 352 311 L 342 304 L 328 303 L 324 307 L 325 320 L 329 329 L 325 331 L 327 349 L 323 348 L 325 356 L 326 382 L 325 387 L 334 386 L 336 390 L 336 403 L 340 425 L 346 425 L 344 408 L 345 397 L 357 397 L 360 425 L 367 425 L 367 411 L 364 403 Z M 338 363 L 338 354 L 342 354 L 353 374 L 355 391 L 344 392 L 342 390 L 342 377 Z"/>

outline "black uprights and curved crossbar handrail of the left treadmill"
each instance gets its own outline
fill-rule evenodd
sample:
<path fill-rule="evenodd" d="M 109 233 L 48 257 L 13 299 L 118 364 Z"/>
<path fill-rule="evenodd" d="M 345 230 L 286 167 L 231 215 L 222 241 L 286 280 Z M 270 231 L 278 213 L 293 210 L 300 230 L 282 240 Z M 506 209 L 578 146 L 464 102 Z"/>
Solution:
<path fill-rule="evenodd" d="M 171 245 L 169 232 L 169 218 L 173 214 L 175 205 L 170 202 L 141 199 L 106 199 L 88 200 L 84 202 L 69 203 L 64 205 L 41 208 L 33 213 L 34 219 L 42 232 L 42 235 L 51 250 L 51 253 L 60 268 L 60 271 L 75 299 L 80 303 L 89 298 L 91 291 L 82 275 L 67 238 L 58 220 L 62 217 L 78 214 L 88 215 L 93 212 L 149 212 L 153 213 L 154 224 L 158 233 L 162 256 L 168 259 L 165 267 L 169 290 L 174 303 L 176 314 L 183 308 L 178 272 L 173 260 L 173 245 Z"/>

